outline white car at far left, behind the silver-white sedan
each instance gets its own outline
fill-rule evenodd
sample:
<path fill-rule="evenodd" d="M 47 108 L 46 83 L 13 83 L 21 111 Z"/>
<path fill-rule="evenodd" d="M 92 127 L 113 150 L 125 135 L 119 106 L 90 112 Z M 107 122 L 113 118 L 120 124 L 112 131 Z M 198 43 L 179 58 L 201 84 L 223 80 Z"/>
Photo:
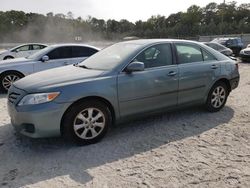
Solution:
<path fill-rule="evenodd" d="M 0 60 L 27 57 L 46 47 L 47 45 L 39 43 L 22 44 L 9 50 L 0 51 Z"/>

